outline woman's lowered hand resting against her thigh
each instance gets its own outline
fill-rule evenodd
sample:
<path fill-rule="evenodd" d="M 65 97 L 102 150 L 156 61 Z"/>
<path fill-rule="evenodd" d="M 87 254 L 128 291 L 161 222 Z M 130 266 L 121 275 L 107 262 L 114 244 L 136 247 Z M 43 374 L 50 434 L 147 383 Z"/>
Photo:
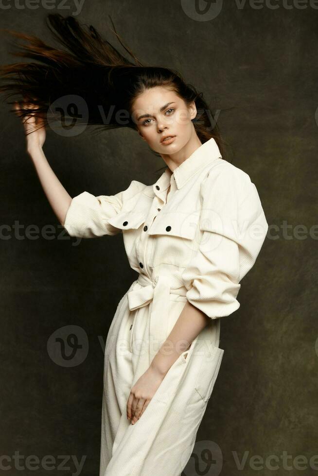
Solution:
<path fill-rule="evenodd" d="M 127 418 L 128 420 L 132 419 L 132 425 L 139 420 L 148 407 L 163 378 L 163 374 L 149 367 L 132 387 L 127 400 Z"/>

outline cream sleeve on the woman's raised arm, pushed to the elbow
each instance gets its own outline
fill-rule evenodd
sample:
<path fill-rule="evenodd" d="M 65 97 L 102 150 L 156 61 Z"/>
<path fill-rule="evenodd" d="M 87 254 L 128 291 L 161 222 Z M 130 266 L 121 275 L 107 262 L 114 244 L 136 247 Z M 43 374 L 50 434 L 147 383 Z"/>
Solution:
<path fill-rule="evenodd" d="M 115 195 L 95 197 L 82 192 L 71 201 L 66 213 L 64 228 L 71 237 L 95 238 L 103 235 L 116 235 L 120 232 L 108 220 L 119 213 L 124 203 L 139 193 L 144 184 L 133 180 L 129 187 Z"/>

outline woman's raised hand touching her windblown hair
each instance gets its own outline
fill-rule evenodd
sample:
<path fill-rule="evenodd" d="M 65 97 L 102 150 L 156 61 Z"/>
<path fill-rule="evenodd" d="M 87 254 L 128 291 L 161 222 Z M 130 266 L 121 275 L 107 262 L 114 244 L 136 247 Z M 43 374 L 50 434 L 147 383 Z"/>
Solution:
<path fill-rule="evenodd" d="M 15 102 L 14 108 L 16 109 L 16 114 L 18 114 L 18 109 L 30 109 L 35 108 L 34 104 L 22 104 L 22 107 L 19 102 Z M 44 127 L 44 120 L 40 118 L 36 113 L 29 114 L 21 118 L 25 136 L 26 136 L 26 149 L 30 153 L 35 149 L 41 149 L 46 138 L 46 131 Z"/>

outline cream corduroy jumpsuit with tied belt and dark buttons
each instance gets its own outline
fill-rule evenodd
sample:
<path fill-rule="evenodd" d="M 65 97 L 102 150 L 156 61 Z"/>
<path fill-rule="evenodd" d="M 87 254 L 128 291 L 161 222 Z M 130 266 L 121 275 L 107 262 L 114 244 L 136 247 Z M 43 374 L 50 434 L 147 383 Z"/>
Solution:
<path fill-rule="evenodd" d="M 240 306 L 239 282 L 267 233 L 257 189 L 246 172 L 222 159 L 211 138 L 153 185 L 133 180 L 116 195 L 74 197 L 64 227 L 80 238 L 122 233 L 138 272 L 106 339 L 100 476 L 180 476 L 223 357 L 220 318 Z M 131 425 L 130 390 L 187 300 L 211 321 Z"/>

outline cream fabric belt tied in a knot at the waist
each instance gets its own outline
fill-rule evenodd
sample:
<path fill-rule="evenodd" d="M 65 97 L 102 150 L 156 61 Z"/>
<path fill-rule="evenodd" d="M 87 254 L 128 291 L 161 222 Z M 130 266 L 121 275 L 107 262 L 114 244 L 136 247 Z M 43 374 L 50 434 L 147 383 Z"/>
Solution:
<path fill-rule="evenodd" d="M 172 287 L 171 277 L 165 275 L 158 275 L 152 281 L 148 276 L 139 274 L 137 282 L 142 288 L 135 287 L 127 293 L 128 307 L 134 311 L 152 302 L 149 323 L 149 363 L 151 363 L 167 338 L 170 293 L 185 296 L 187 289 L 181 278 L 174 278 L 177 287 Z M 157 344 L 154 345 L 156 342 L 159 343 L 158 348 Z"/>

